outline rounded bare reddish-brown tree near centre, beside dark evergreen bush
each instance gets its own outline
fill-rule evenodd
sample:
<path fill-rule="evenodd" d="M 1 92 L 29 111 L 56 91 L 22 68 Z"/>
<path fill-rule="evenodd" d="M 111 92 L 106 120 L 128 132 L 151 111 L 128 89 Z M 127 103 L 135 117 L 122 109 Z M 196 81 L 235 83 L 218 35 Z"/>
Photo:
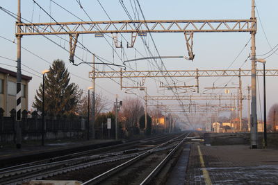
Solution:
<path fill-rule="evenodd" d="M 124 98 L 122 101 L 121 115 L 124 121 L 124 127 L 137 127 L 139 116 L 141 116 L 140 108 L 142 101 L 138 98 Z"/>

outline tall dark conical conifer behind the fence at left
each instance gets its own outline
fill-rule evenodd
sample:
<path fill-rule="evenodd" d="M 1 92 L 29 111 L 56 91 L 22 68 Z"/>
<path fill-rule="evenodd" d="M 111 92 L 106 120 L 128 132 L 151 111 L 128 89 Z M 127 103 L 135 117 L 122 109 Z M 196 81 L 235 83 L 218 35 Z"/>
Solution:
<path fill-rule="evenodd" d="M 44 76 L 44 111 L 49 116 L 70 115 L 76 113 L 81 97 L 78 85 L 70 83 L 70 73 L 63 60 L 54 60 L 49 73 Z M 42 83 L 36 91 L 33 105 L 42 111 Z"/>

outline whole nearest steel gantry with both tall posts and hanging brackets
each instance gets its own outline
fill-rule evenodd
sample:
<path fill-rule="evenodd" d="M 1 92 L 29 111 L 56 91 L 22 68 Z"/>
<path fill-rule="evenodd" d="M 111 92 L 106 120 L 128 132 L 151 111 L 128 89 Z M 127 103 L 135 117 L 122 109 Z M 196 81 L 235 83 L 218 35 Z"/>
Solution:
<path fill-rule="evenodd" d="M 257 21 L 255 16 L 255 1 L 252 0 L 252 16 L 250 19 L 222 19 L 222 20 L 170 20 L 170 21 L 82 21 L 82 22 L 55 22 L 55 23 L 22 23 L 20 2 L 18 0 L 18 13 L 16 22 L 17 37 L 17 82 L 21 82 L 21 37 L 24 35 L 69 35 L 70 36 L 70 62 L 74 63 L 74 53 L 79 34 L 118 34 L 131 33 L 133 46 L 137 35 L 145 33 L 183 33 L 186 38 L 188 60 L 194 59 L 193 33 L 250 33 L 252 37 L 252 148 L 257 147 L 257 117 L 256 117 L 256 42 Z M 113 35 L 114 42 L 117 37 Z M 95 74 L 95 70 L 93 70 Z M 95 80 L 95 76 L 92 76 Z M 17 91 L 20 95 L 20 85 Z M 19 96 L 20 97 L 20 96 Z M 20 98 L 19 98 L 20 101 Z M 20 106 L 18 106 L 20 109 Z M 18 113 L 20 115 L 20 113 Z M 19 116 L 21 120 L 21 116 Z"/>

